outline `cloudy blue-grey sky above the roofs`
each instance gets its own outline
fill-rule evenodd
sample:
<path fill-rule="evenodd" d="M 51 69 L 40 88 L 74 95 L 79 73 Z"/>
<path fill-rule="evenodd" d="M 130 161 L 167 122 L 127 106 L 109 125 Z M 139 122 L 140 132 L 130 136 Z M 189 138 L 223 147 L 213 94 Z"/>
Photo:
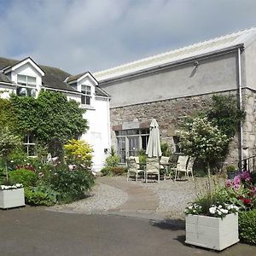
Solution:
<path fill-rule="evenodd" d="M 256 26 L 256 0 L 0 0 L 0 56 L 96 72 Z"/>

